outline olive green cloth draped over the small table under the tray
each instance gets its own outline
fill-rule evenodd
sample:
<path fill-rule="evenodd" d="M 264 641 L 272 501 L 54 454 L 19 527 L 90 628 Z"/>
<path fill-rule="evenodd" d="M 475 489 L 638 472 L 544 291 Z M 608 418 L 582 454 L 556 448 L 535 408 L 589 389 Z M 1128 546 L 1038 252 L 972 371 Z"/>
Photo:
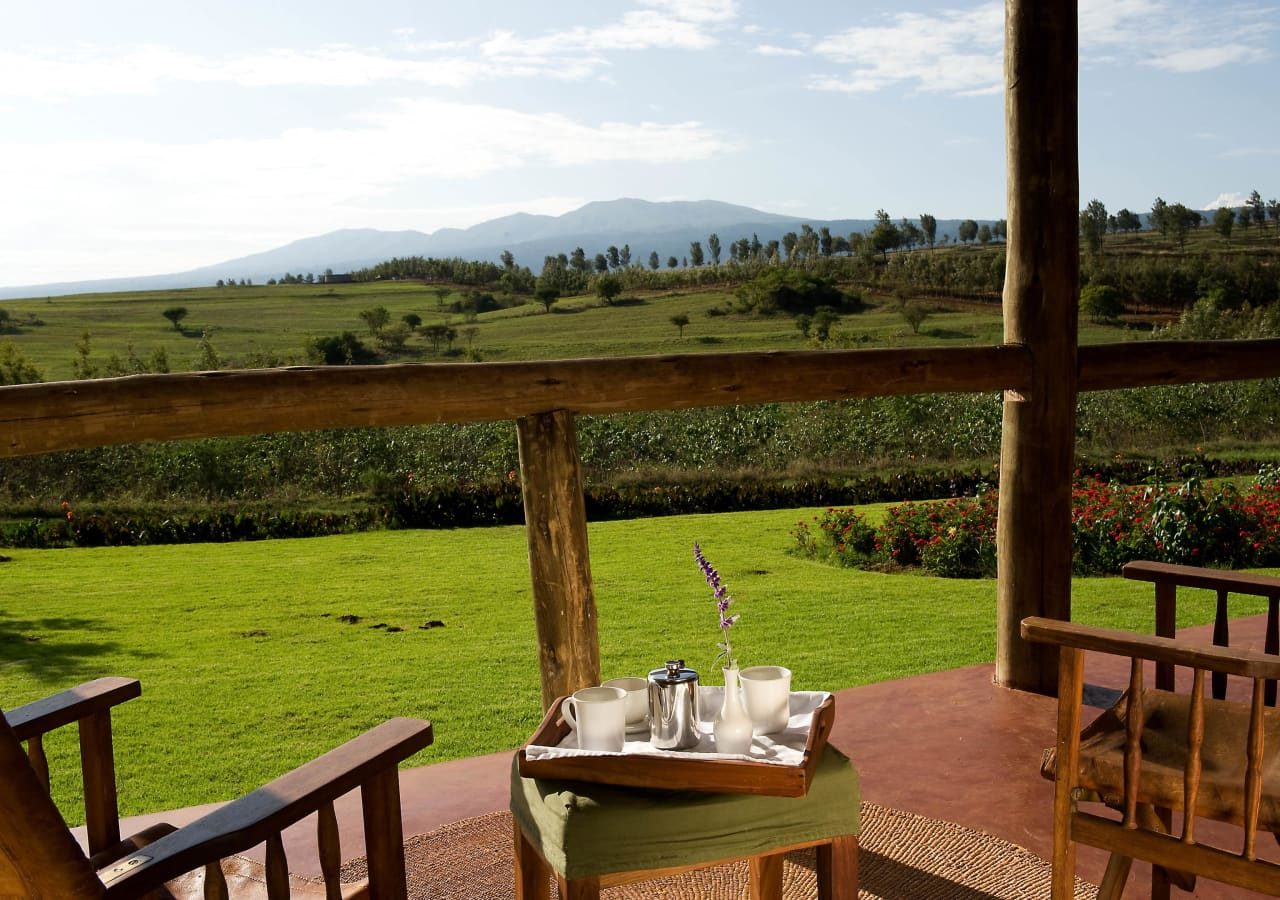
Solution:
<path fill-rule="evenodd" d="M 511 812 L 566 878 L 755 856 L 859 831 L 858 769 L 827 748 L 803 798 L 698 794 L 522 778 Z"/>

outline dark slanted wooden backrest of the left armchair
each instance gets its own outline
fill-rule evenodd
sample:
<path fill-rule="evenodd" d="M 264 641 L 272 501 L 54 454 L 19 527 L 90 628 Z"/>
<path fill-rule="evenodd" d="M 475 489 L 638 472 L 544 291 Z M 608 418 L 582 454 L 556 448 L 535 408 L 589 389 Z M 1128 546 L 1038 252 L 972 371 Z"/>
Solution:
<path fill-rule="evenodd" d="M 101 897 L 102 882 L 0 716 L 0 896 Z"/>

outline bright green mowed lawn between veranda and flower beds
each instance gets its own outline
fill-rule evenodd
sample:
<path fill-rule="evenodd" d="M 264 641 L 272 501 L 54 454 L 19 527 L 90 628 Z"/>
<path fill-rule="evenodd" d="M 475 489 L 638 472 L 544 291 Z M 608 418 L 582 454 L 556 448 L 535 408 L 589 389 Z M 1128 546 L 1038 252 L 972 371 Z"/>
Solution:
<path fill-rule="evenodd" d="M 737 598 L 739 659 L 787 664 L 797 689 L 992 661 L 995 583 L 788 556 L 791 527 L 814 512 L 593 525 L 603 676 L 684 657 L 719 680 L 694 540 Z M 509 750 L 540 718 L 522 527 L 9 553 L 0 704 L 140 679 L 142 696 L 115 714 L 125 814 L 228 799 L 393 716 L 435 722 L 411 764 Z M 1184 625 L 1211 615 L 1210 595 L 1181 603 Z M 1079 580 L 1075 617 L 1149 630 L 1151 586 Z M 419 629 L 430 620 L 444 627 Z M 47 746 L 79 821 L 73 731 Z"/>

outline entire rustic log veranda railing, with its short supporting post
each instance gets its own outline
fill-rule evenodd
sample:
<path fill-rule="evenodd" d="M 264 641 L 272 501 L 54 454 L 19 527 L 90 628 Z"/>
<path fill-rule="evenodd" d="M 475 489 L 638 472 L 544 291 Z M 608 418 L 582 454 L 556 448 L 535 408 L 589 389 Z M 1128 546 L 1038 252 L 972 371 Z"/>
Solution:
<path fill-rule="evenodd" d="M 515 420 L 543 699 L 549 703 L 599 677 L 576 415 L 984 390 L 1027 397 L 1033 367 L 1027 347 L 1002 344 L 292 367 L 24 384 L 0 388 L 0 458 L 143 440 Z M 1078 374 L 1082 390 L 1275 378 L 1280 341 L 1082 347 Z M 1020 618 L 1001 620 L 1002 629 L 1009 622 L 1014 629 L 1002 631 L 1001 640 L 1020 640 Z"/>

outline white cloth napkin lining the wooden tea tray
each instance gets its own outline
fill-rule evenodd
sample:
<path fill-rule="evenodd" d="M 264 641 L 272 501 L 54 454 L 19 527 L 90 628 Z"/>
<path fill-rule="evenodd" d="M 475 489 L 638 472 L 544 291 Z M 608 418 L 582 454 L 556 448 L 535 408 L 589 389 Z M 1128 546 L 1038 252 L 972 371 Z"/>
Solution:
<path fill-rule="evenodd" d="M 530 744 L 525 748 L 526 759 L 563 759 L 566 757 L 684 757 L 686 759 L 749 759 L 755 763 L 774 766 L 801 766 L 804 748 L 809 743 L 809 727 L 813 725 L 813 712 L 831 696 L 828 691 L 801 690 L 791 693 L 791 716 L 787 727 L 774 735 L 756 735 L 745 754 L 716 753 L 712 740 L 712 722 L 716 713 L 724 705 L 724 689 L 699 685 L 698 691 L 698 746 L 689 750 L 662 750 L 654 746 L 648 732 L 640 732 L 635 740 L 628 735 L 622 744 L 622 753 L 609 750 L 580 750 L 577 735 L 570 731 L 557 746 Z"/>

